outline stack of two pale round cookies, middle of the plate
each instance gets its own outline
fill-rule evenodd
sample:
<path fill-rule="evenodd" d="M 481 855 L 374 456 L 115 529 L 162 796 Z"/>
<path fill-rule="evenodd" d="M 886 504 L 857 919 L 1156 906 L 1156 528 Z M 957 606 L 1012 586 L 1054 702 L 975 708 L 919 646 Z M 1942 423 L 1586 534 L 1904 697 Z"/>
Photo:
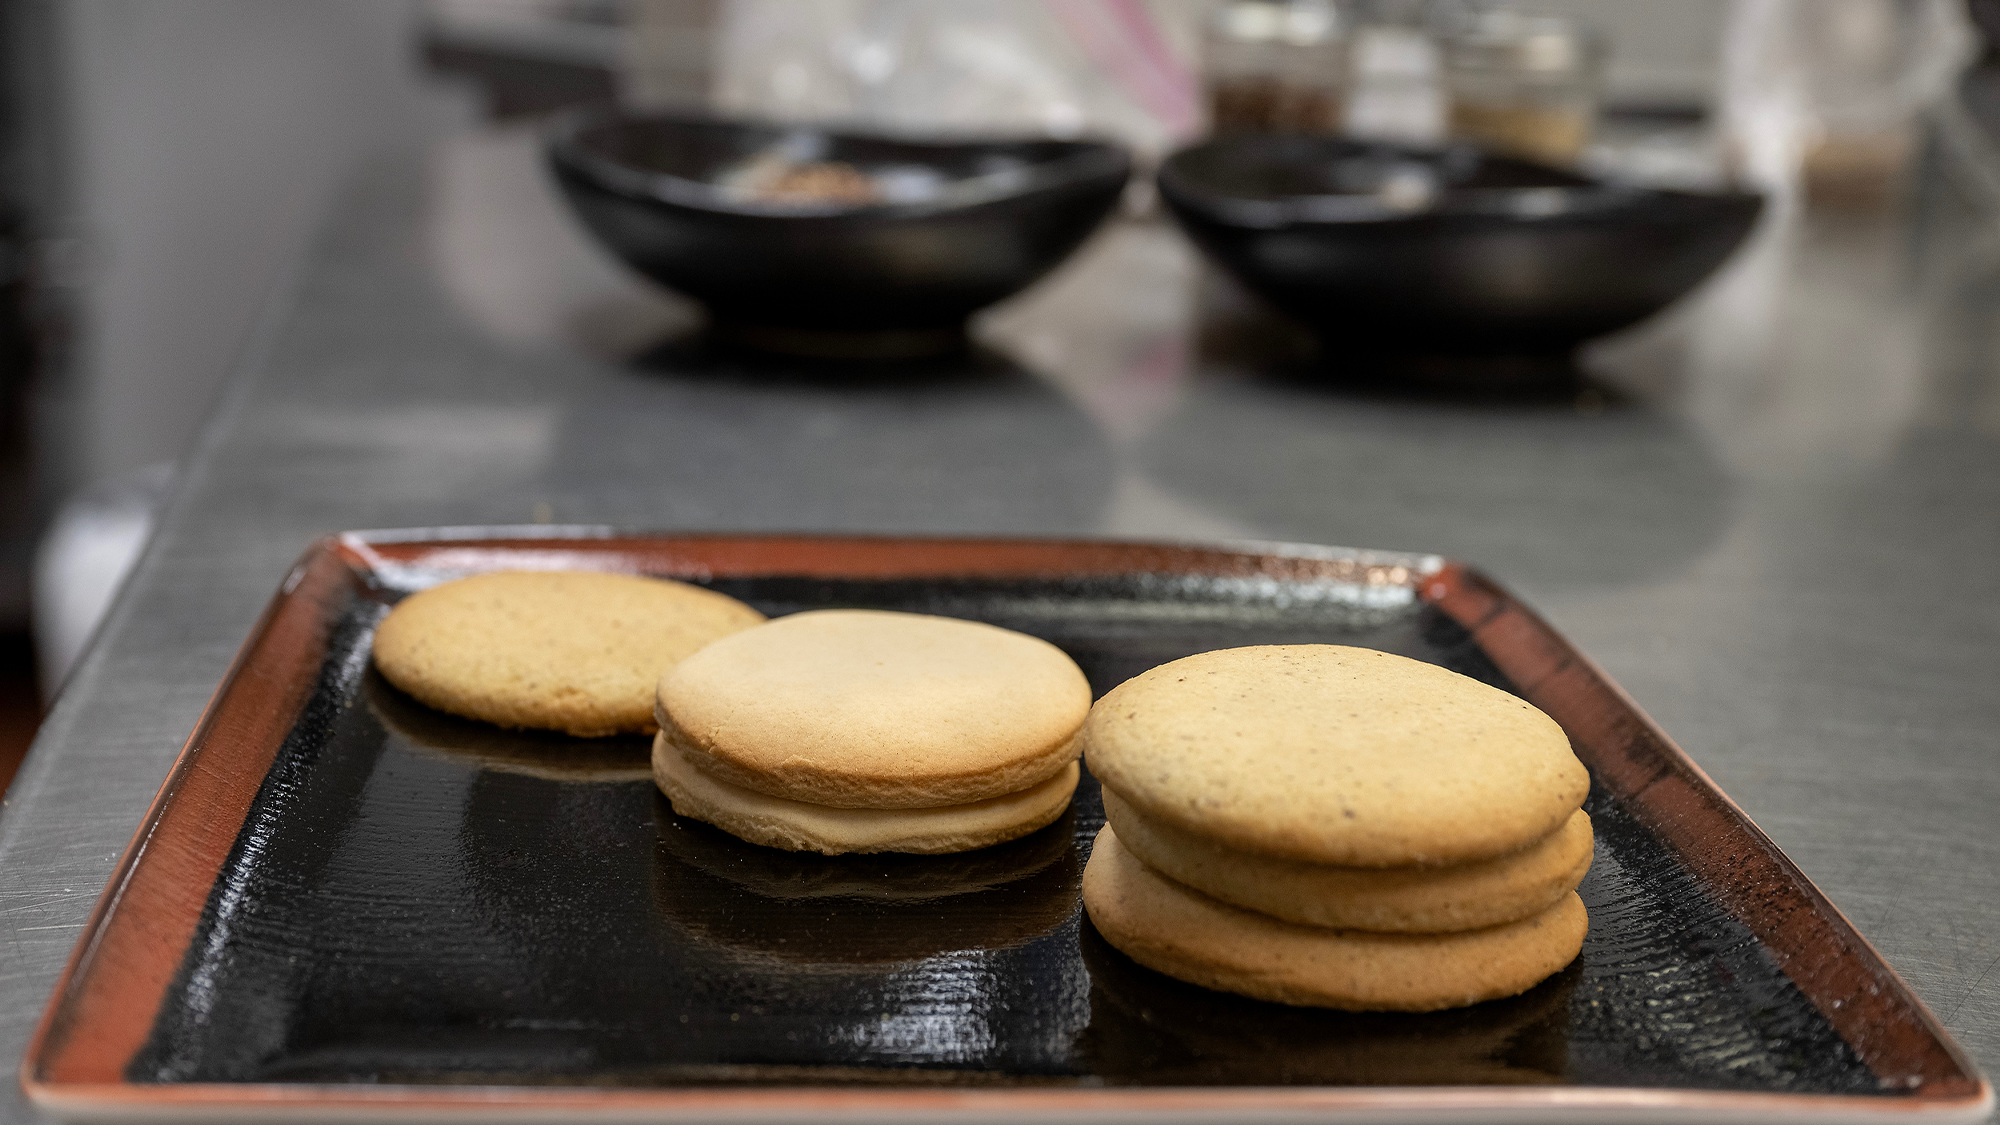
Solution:
<path fill-rule="evenodd" d="M 956 853 L 1076 791 L 1090 683 L 1054 645 L 948 617 L 794 613 L 660 679 L 654 781 L 682 817 L 788 851 Z"/>

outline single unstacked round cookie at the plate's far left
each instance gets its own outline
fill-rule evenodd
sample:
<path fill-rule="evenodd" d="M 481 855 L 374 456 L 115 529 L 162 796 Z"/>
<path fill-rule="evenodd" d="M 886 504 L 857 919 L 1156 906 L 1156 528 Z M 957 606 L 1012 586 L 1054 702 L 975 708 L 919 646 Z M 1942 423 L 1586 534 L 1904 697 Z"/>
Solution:
<path fill-rule="evenodd" d="M 502 571 L 418 591 L 382 619 L 374 663 L 420 703 L 582 737 L 654 731 L 678 661 L 764 615 L 666 579 Z"/>

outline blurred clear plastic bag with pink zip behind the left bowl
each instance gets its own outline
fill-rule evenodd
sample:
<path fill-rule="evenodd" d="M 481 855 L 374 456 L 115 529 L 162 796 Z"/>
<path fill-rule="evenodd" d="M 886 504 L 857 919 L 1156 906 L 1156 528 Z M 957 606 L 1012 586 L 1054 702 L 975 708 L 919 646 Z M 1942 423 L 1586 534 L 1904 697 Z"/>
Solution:
<path fill-rule="evenodd" d="M 720 112 L 892 132 L 1098 134 L 1160 154 L 1200 128 L 1198 0 L 724 0 Z"/>

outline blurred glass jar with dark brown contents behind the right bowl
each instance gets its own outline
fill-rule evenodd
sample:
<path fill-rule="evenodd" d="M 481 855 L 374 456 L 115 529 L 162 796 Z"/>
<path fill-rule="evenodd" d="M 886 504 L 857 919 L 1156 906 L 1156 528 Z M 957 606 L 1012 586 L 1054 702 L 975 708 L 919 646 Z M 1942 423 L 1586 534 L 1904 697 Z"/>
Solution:
<path fill-rule="evenodd" d="M 1340 8 L 1328 0 L 1224 4 L 1208 24 L 1204 80 L 1216 134 L 1340 132 Z"/>

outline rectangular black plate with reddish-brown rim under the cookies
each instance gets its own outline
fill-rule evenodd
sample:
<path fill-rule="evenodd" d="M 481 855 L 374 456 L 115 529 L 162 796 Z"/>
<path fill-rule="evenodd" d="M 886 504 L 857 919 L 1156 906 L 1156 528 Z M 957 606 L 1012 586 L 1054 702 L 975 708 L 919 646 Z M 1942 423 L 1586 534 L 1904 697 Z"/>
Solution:
<path fill-rule="evenodd" d="M 1100 823 L 968 857 L 796 857 L 676 819 L 640 741 L 430 713 L 368 667 L 424 585 L 590 567 L 766 613 L 1022 629 L 1098 691 L 1366 645 L 1548 711 L 1590 767 L 1576 965 L 1344 1015 L 1206 993 L 1076 907 Z M 68 1119 L 1976 1121 L 1992 1091 L 1610 681 L 1480 575 L 1300 546 L 360 532 L 314 546 L 128 849 L 22 1075 Z"/>

